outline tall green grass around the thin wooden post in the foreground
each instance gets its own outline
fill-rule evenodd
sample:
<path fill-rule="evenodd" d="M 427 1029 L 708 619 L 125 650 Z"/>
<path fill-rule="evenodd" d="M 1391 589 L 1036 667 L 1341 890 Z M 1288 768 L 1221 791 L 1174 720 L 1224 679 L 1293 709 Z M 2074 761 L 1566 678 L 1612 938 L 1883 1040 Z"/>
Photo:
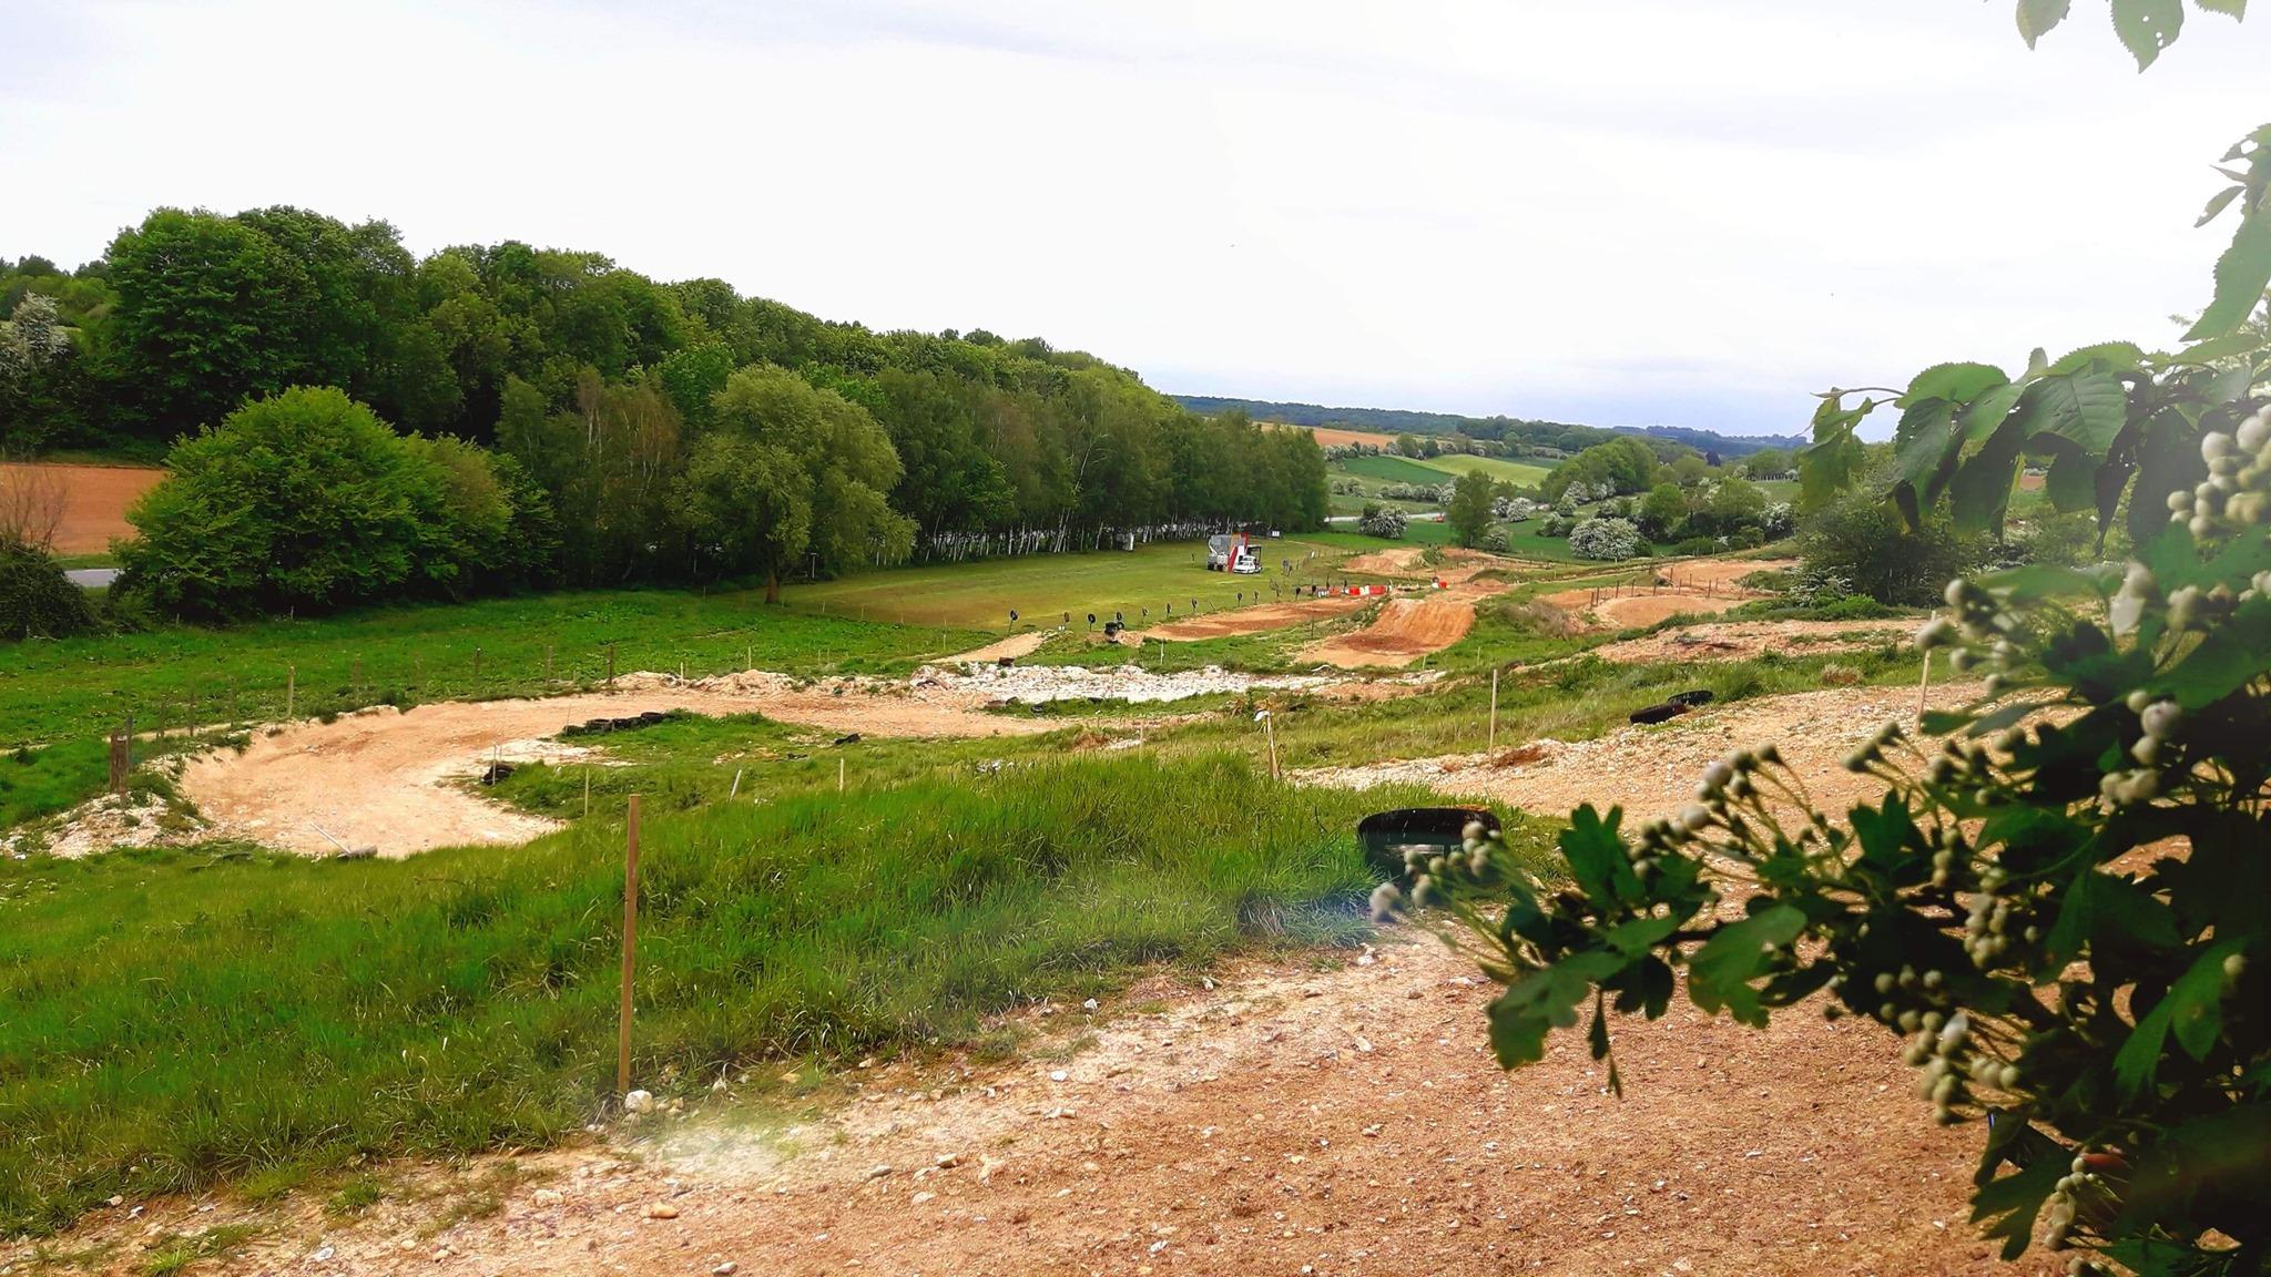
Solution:
<path fill-rule="evenodd" d="M 1349 943 L 1349 829 L 1417 798 L 1120 757 L 650 818 L 636 1077 L 954 1043 L 1133 963 Z M 613 1086 L 620 891 L 597 818 L 393 863 L 0 861 L 0 1234 L 577 1129 Z"/>

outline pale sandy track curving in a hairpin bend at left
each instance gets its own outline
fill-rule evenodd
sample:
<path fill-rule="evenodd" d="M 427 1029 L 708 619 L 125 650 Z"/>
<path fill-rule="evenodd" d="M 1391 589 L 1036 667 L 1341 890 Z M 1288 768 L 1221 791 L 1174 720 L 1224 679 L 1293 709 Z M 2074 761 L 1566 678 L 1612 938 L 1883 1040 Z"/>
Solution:
<path fill-rule="evenodd" d="M 793 686 L 777 675 L 734 675 L 674 686 L 663 675 L 627 675 L 627 691 L 547 700 L 479 700 L 420 704 L 407 713 L 370 709 L 336 723 L 302 720 L 275 736 L 252 734 L 243 752 L 200 754 L 182 773 L 182 793 L 218 836 L 238 836 L 293 852 L 329 854 L 332 838 L 409 857 L 463 843 L 525 843 L 552 820 L 468 793 L 491 750 L 504 757 L 545 754 L 536 741 L 590 718 L 645 711 L 763 713 L 831 732 L 874 736 L 1004 736 L 1047 732 L 1047 720 L 981 713 L 983 693 L 922 688 L 870 693 L 870 684 Z M 318 832 L 318 825 L 322 832 Z"/>

